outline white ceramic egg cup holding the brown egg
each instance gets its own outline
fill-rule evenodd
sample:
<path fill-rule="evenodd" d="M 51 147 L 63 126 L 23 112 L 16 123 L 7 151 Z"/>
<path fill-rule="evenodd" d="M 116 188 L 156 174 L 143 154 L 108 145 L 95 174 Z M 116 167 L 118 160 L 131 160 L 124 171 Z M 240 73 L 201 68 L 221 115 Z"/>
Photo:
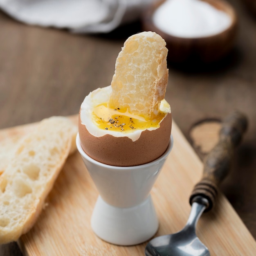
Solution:
<path fill-rule="evenodd" d="M 150 190 L 171 152 L 173 137 L 161 157 L 131 167 L 95 161 L 83 151 L 79 135 L 76 146 L 99 191 L 91 218 L 94 233 L 115 245 L 137 245 L 154 236 L 159 224 Z"/>

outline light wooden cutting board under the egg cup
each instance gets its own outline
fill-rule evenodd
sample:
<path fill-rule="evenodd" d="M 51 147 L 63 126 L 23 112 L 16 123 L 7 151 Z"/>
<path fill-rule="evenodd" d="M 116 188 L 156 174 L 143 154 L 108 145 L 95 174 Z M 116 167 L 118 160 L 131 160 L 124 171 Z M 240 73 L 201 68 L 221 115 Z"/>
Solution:
<path fill-rule="evenodd" d="M 72 117 L 76 122 L 77 116 Z M 15 141 L 36 124 L 0 131 L 0 141 Z M 202 162 L 173 122 L 174 146 L 151 191 L 159 218 L 155 236 L 174 233 L 189 216 L 189 195 L 202 174 Z M 98 192 L 78 152 L 70 156 L 49 194 L 36 225 L 18 241 L 25 256 L 144 255 L 146 242 L 117 246 L 94 235 L 90 217 Z M 256 241 L 222 193 L 216 208 L 204 213 L 197 234 L 211 256 L 256 255 Z"/>

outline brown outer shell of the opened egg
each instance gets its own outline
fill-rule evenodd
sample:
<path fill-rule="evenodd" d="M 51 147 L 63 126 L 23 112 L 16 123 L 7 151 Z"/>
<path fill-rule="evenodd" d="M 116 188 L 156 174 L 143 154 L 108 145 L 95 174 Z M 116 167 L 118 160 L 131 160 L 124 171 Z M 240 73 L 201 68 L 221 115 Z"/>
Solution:
<path fill-rule="evenodd" d="M 168 113 L 156 130 L 144 130 L 139 139 L 115 137 L 109 134 L 95 137 L 81 124 L 79 113 L 79 137 L 85 153 L 92 159 L 112 166 L 136 166 L 160 157 L 168 147 L 172 115 Z"/>

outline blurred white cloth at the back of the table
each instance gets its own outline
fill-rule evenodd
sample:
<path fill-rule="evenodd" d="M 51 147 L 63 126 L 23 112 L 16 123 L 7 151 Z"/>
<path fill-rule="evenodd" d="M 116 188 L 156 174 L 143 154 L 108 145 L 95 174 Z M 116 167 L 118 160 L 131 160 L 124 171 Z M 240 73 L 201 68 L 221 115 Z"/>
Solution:
<path fill-rule="evenodd" d="M 0 8 L 29 25 L 108 33 L 139 18 L 154 0 L 0 0 Z"/>

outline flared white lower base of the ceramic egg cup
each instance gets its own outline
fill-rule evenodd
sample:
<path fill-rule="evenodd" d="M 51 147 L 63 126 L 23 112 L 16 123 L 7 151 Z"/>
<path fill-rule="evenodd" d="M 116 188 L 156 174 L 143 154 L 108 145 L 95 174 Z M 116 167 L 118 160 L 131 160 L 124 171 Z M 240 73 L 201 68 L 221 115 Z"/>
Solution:
<path fill-rule="evenodd" d="M 99 195 L 91 218 L 91 227 L 99 238 L 123 246 L 145 242 L 155 235 L 158 226 L 150 195 L 141 204 L 128 208 L 114 207 Z"/>

